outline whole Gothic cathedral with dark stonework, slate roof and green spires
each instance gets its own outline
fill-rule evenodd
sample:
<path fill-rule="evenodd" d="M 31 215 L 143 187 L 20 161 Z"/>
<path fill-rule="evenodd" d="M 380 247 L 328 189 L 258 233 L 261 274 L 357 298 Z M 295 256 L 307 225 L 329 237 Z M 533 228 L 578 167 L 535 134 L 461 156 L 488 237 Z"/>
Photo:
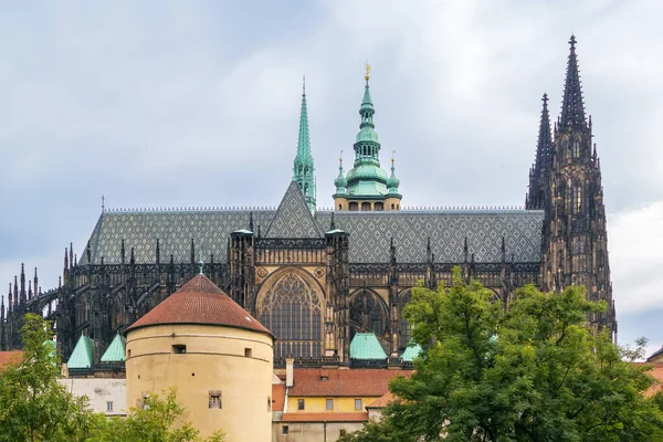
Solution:
<path fill-rule="evenodd" d="M 85 335 L 99 361 L 116 334 L 193 277 L 200 261 L 275 335 L 276 366 L 290 356 L 299 365 L 350 365 L 357 333 L 379 339 L 388 358 L 376 365 L 401 364 L 411 288 L 451 282 L 454 266 L 502 302 L 528 283 L 546 291 L 583 284 L 588 298 L 609 306 L 592 324 L 614 334 L 600 161 L 578 72 L 571 38 L 552 131 L 544 96 L 524 210 L 403 210 L 393 161 L 390 173 L 380 165 L 367 74 L 355 160 L 347 173 L 339 167 L 333 210 L 316 210 L 304 92 L 293 180 L 277 209 L 104 210 L 81 256 L 65 250 L 59 287 L 36 293 L 36 271 L 25 286 L 23 269 L 10 284 L 3 348 L 20 348 L 22 315 L 41 312 L 55 320 L 65 360 Z"/>

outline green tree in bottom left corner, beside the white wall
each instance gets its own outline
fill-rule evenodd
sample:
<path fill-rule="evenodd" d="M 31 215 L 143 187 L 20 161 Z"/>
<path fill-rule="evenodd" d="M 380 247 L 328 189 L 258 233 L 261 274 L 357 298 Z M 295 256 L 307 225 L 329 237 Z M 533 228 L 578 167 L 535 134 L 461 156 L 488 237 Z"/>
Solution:
<path fill-rule="evenodd" d="M 83 441 L 94 424 L 86 398 L 57 382 L 60 364 L 51 325 L 28 314 L 23 356 L 0 371 L 0 441 Z"/>

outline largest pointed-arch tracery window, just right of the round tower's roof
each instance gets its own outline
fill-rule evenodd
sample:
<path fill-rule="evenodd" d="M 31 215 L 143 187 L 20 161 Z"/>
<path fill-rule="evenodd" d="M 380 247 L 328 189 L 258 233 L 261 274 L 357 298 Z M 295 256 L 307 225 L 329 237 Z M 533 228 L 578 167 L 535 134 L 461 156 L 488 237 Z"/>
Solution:
<path fill-rule="evenodd" d="M 322 356 L 323 316 L 320 294 L 295 272 L 272 284 L 260 306 L 260 320 L 276 337 L 274 357 Z"/>

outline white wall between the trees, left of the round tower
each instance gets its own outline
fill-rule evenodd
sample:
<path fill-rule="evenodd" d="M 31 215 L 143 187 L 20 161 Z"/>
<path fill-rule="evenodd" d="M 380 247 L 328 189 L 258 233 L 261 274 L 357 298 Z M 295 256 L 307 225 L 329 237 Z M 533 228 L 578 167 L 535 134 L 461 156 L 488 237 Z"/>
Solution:
<path fill-rule="evenodd" d="M 96 412 L 107 415 L 126 415 L 127 413 L 126 379 L 69 378 L 59 379 L 59 382 L 74 396 L 87 396 L 90 406 Z M 108 402 L 113 402 L 113 411 L 108 411 Z"/>

